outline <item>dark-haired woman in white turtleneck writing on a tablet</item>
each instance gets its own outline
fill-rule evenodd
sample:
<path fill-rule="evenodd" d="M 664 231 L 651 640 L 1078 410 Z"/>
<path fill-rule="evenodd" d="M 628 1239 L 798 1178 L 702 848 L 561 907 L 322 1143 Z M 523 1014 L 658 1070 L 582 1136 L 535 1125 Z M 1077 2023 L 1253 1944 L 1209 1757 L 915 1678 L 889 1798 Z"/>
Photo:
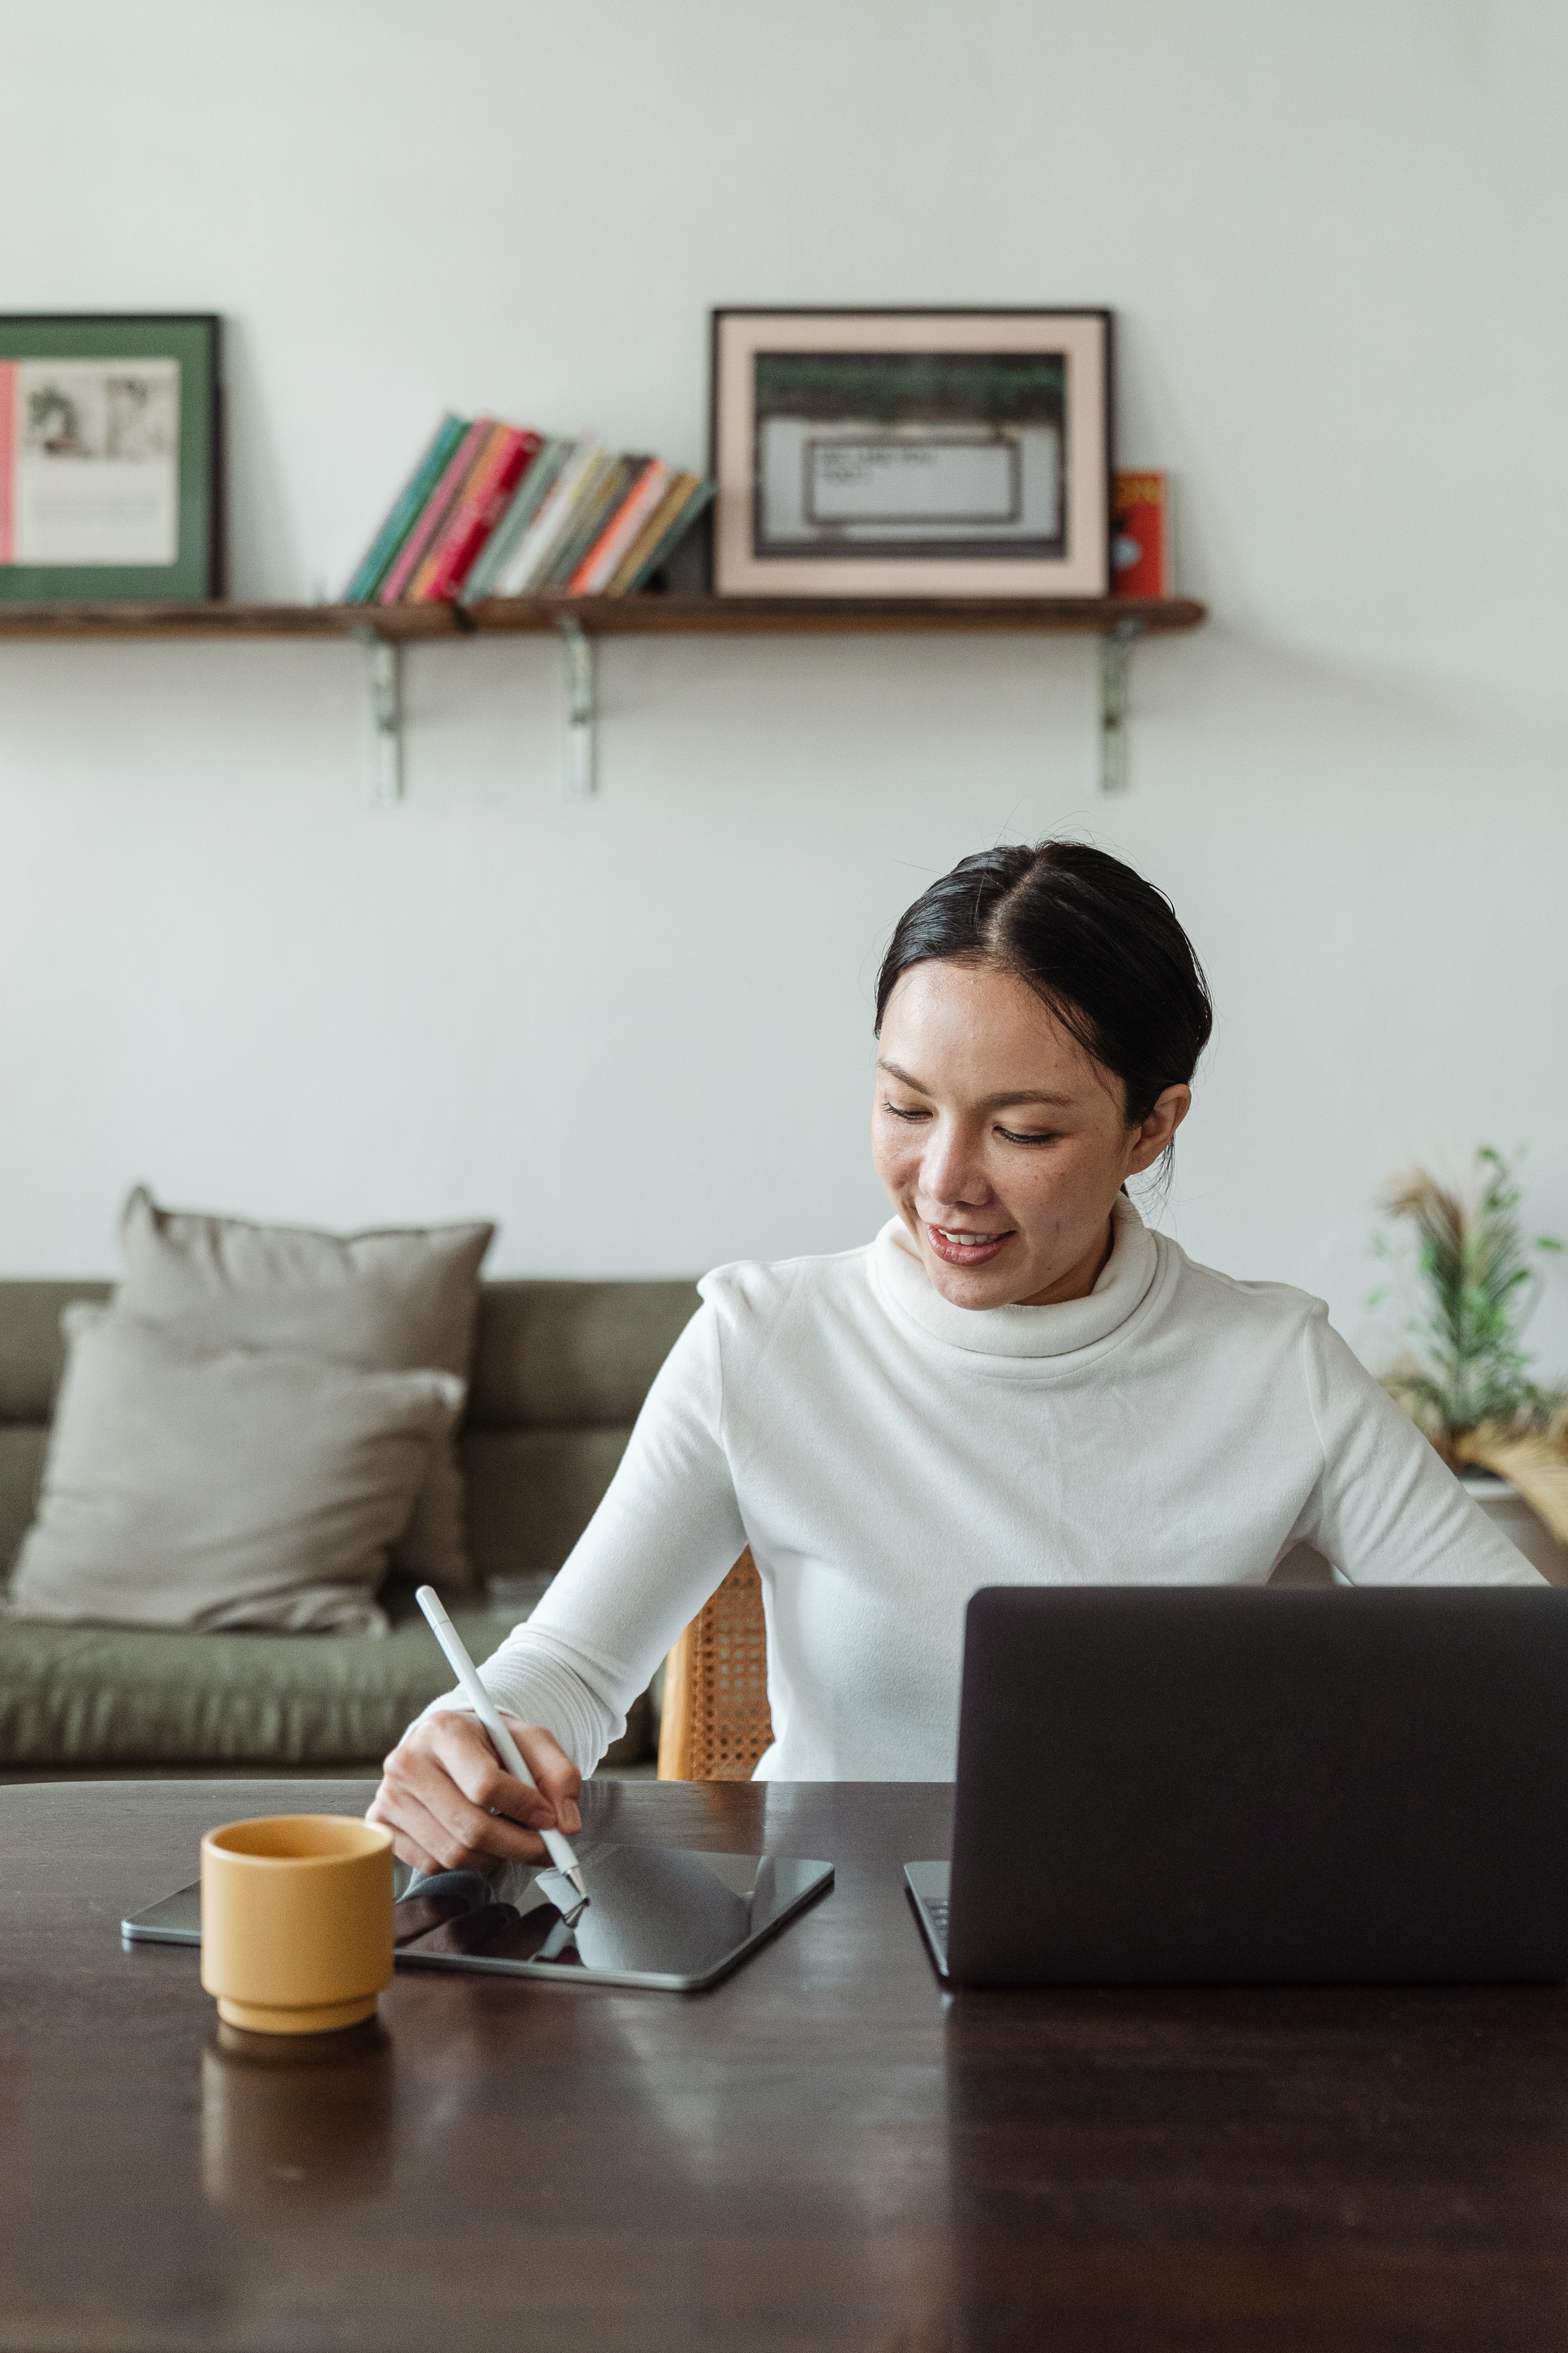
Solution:
<path fill-rule="evenodd" d="M 545 1600 L 484 1668 L 538 1779 L 461 1701 L 369 1809 L 404 1861 L 538 1861 L 578 1777 L 750 1544 L 778 1779 L 947 1779 L 980 1584 L 1262 1584 L 1312 1539 L 1363 1584 L 1535 1584 L 1331 1332 L 1126 1198 L 1192 1106 L 1208 988 L 1100 849 L 964 859 L 877 984 L 872 1158 L 893 1219 L 722 1266 Z"/>

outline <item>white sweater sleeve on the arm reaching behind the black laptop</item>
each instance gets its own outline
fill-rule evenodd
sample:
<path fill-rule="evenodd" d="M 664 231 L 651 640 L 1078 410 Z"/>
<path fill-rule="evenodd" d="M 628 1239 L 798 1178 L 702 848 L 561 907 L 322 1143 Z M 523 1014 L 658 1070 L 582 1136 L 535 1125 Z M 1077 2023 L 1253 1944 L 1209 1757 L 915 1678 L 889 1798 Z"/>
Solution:
<path fill-rule="evenodd" d="M 1324 1473 L 1298 1525 L 1356 1586 L 1537 1586 L 1319 1306 L 1302 1332 Z"/>

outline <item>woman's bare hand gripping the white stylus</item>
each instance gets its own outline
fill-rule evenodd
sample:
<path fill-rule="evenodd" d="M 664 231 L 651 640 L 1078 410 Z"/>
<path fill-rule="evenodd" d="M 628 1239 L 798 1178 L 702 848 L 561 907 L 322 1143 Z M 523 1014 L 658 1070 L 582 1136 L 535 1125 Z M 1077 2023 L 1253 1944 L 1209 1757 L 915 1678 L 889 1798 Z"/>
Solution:
<path fill-rule="evenodd" d="M 477 1718 L 444 1708 L 425 1715 L 381 1767 L 364 1819 L 393 1833 L 400 1861 L 418 1871 L 489 1871 L 543 1864 L 538 1831 L 583 1828 L 583 1777 L 541 1725 L 503 1722 L 538 1781 L 527 1788 L 501 1765 Z"/>

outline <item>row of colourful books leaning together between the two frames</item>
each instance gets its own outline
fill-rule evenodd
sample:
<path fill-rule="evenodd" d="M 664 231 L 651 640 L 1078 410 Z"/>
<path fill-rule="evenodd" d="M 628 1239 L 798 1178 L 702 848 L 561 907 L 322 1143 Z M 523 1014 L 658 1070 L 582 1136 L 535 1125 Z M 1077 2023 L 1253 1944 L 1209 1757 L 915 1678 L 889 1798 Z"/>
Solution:
<path fill-rule="evenodd" d="M 661 456 L 444 416 L 355 567 L 346 605 L 630 595 L 686 536 L 712 482 Z"/>

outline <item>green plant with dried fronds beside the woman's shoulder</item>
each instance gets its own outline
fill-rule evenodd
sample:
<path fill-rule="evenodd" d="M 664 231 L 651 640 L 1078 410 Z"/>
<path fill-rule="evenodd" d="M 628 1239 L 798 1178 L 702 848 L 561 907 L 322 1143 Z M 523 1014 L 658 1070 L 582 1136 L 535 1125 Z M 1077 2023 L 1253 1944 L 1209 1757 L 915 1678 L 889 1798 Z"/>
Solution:
<path fill-rule="evenodd" d="M 1493 1146 L 1481 1146 L 1465 1188 L 1410 1169 L 1385 1191 L 1382 1214 L 1415 1228 L 1420 1313 L 1382 1386 L 1467 1485 L 1507 1480 L 1568 1544 L 1568 1393 L 1542 1388 L 1521 1346 L 1540 1299 L 1533 1257 L 1563 1245 L 1547 1233 L 1526 1242 L 1521 1198 L 1516 1162 Z M 1373 1249 L 1396 1257 L 1385 1235 Z M 1371 1306 L 1385 1297 L 1373 1292 Z"/>

